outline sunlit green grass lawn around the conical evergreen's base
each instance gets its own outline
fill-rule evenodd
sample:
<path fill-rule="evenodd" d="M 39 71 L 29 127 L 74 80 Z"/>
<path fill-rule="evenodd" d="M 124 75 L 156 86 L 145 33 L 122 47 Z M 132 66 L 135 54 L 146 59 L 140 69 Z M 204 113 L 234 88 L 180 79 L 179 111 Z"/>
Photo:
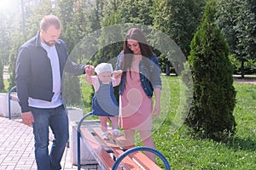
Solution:
<path fill-rule="evenodd" d="M 154 118 L 153 138 L 156 149 L 166 156 L 172 169 L 256 169 L 255 85 L 234 82 L 237 92 L 234 111 L 236 135 L 226 143 L 218 143 L 190 136 L 178 114 L 183 91 L 179 79 L 163 76 L 162 80 L 162 111 L 159 117 Z M 82 81 L 83 98 L 88 107 L 91 90 L 90 85 Z M 163 166 L 160 159 L 157 162 Z"/>

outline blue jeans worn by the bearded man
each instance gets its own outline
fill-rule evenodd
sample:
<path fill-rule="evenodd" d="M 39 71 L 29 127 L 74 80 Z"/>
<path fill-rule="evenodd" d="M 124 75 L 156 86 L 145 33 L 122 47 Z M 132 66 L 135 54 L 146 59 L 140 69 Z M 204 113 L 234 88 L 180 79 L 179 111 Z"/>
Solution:
<path fill-rule="evenodd" d="M 68 140 L 68 118 L 65 107 L 63 105 L 54 109 L 31 107 L 31 111 L 34 116 L 32 127 L 38 170 L 61 169 L 61 158 Z M 49 127 L 55 135 L 50 152 Z"/>

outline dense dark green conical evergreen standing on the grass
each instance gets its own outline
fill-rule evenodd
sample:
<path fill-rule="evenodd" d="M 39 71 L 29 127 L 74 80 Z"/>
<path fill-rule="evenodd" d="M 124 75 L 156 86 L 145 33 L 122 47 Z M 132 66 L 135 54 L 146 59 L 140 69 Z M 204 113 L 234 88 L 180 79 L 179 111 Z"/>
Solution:
<path fill-rule="evenodd" d="M 209 1 L 191 42 L 193 99 L 185 121 L 203 139 L 225 140 L 236 130 L 236 91 L 228 56 L 228 43 L 216 24 L 216 4 Z"/>

